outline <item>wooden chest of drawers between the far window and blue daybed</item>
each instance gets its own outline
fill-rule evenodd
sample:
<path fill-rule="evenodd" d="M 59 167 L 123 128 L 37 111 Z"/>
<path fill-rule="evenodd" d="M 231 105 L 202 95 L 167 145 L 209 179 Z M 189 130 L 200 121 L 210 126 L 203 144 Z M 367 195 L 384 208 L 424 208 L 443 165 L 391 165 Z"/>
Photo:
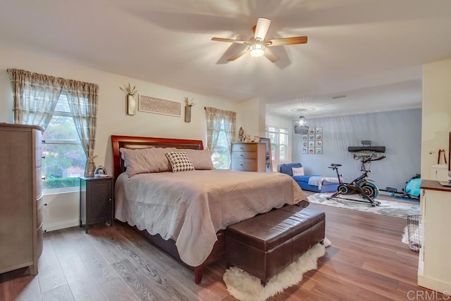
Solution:
<path fill-rule="evenodd" d="M 232 143 L 232 170 L 266 172 L 266 145 L 259 142 Z"/>

